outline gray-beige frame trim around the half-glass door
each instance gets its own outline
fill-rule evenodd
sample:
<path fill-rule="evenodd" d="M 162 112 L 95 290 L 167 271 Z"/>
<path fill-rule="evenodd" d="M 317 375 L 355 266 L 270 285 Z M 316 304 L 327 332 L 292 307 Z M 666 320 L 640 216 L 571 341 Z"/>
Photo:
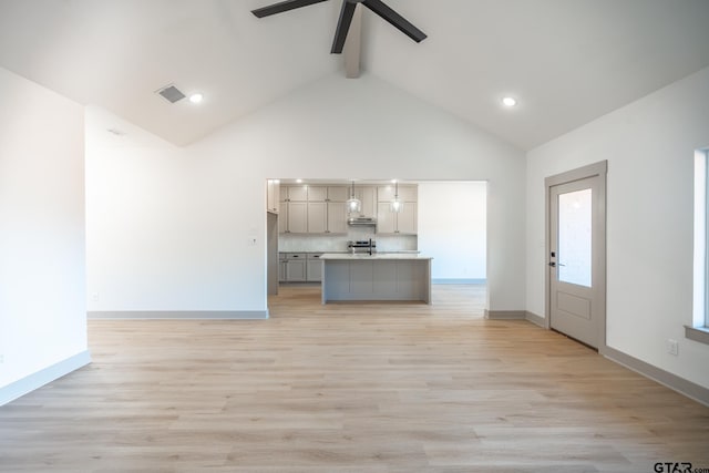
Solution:
<path fill-rule="evenodd" d="M 598 301 L 597 304 L 603 310 L 603 315 L 599 318 L 598 323 L 598 352 L 604 354 L 608 348 L 606 345 L 606 239 L 607 239 L 607 222 L 606 222 L 606 175 L 608 173 L 608 162 L 600 161 L 598 163 L 589 164 L 587 166 L 578 167 L 576 169 L 567 171 L 565 173 L 548 176 L 544 179 L 544 270 L 546 277 L 544 278 L 544 327 L 549 330 L 552 326 L 552 277 L 553 271 L 548 266 L 549 254 L 552 251 L 551 244 L 551 224 L 552 216 L 549 212 L 551 207 L 551 193 L 552 187 L 572 183 L 575 181 L 585 179 L 587 177 L 598 177 L 598 208 L 596 212 L 600 213 L 597 222 L 603 224 L 600 234 L 603 235 L 602 241 L 598 243 L 599 254 L 594 257 L 594 263 L 597 265 L 598 271 Z"/>

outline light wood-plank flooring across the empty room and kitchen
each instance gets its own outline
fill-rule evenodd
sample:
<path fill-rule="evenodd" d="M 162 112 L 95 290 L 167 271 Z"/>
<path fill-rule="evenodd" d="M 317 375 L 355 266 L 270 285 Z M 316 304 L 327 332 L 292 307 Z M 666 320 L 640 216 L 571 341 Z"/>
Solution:
<path fill-rule="evenodd" d="M 269 320 L 91 320 L 93 363 L 0 408 L 2 472 L 709 469 L 709 408 L 525 321 L 484 288 Z M 665 471 L 665 470 L 662 470 Z"/>

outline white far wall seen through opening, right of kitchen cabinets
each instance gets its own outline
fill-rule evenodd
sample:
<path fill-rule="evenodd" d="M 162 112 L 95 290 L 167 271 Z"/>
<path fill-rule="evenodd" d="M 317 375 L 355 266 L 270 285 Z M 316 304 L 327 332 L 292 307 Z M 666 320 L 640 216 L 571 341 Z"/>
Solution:
<path fill-rule="evenodd" d="M 434 279 L 485 279 L 485 182 L 419 184 L 419 249 Z"/>

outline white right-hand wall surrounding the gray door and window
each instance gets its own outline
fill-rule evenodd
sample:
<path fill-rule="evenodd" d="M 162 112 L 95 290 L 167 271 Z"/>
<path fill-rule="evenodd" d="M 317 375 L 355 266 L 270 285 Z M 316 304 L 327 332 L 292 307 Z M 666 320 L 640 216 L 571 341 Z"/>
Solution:
<path fill-rule="evenodd" d="M 544 177 L 608 160 L 607 345 L 709 388 L 692 318 L 695 150 L 709 144 L 709 69 L 533 150 L 527 310 L 544 315 Z M 679 356 L 666 340 L 679 340 Z"/>

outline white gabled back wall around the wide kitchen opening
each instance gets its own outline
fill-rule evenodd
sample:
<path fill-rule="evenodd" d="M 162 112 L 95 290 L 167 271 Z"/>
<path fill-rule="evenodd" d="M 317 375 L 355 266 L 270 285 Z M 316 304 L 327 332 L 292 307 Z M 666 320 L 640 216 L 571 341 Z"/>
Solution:
<path fill-rule="evenodd" d="M 90 310 L 265 311 L 274 176 L 489 181 L 489 308 L 524 308 L 524 154 L 376 78 L 326 78 L 184 150 L 126 138 L 89 141 Z"/>

